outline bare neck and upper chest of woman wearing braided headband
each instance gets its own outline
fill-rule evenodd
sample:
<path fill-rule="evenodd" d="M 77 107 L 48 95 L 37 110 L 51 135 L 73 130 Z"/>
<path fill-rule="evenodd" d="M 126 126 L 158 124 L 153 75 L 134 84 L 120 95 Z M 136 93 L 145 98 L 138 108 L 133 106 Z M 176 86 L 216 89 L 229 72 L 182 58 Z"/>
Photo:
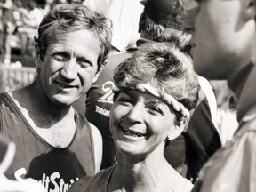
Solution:
<path fill-rule="evenodd" d="M 110 187 L 127 192 L 164 191 L 180 177 L 162 155 L 155 160 L 145 159 L 138 163 L 119 162 L 113 172 Z"/>

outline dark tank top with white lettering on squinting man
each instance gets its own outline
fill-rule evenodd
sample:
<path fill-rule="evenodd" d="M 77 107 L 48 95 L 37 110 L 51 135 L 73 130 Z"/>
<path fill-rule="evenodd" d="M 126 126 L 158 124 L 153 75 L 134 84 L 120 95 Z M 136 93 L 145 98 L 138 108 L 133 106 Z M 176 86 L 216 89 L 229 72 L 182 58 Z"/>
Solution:
<path fill-rule="evenodd" d="M 0 94 L 0 131 L 16 144 L 16 154 L 5 172 L 7 178 L 32 178 L 48 191 L 68 191 L 84 175 L 95 173 L 92 131 L 87 120 L 75 113 L 76 133 L 67 148 L 54 148 L 28 124 L 7 93 Z"/>

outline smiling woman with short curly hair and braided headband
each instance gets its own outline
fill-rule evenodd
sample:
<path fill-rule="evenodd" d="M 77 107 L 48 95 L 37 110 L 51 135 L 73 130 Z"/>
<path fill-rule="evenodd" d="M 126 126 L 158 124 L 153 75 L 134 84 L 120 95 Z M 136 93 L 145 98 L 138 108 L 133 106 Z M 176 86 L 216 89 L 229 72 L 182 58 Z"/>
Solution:
<path fill-rule="evenodd" d="M 164 158 L 195 108 L 199 85 L 192 61 L 172 44 L 145 44 L 115 71 L 110 127 L 118 164 L 70 191 L 190 191 L 192 183 Z"/>

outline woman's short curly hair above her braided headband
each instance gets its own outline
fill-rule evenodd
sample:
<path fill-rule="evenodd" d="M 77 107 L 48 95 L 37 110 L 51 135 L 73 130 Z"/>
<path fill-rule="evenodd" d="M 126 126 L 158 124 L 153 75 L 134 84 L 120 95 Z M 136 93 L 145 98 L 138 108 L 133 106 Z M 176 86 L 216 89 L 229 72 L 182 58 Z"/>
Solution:
<path fill-rule="evenodd" d="M 188 110 L 196 107 L 200 89 L 191 58 L 170 43 L 142 44 L 116 68 L 114 81 L 119 90 L 149 84 Z"/>

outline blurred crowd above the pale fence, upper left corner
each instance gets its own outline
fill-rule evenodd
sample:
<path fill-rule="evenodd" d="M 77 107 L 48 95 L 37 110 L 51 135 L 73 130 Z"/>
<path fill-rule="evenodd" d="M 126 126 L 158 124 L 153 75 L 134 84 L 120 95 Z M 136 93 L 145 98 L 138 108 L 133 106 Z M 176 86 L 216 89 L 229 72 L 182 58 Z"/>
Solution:
<path fill-rule="evenodd" d="M 54 4 L 83 3 L 68 0 L 1 0 L 0 45 L 1 62 L 8 65 L 15 55 L 31 56 L 36 28 Z M 14 58 L 12 58 L 12 56 Z M 22 63 L 23 64 L 23 63 Z M 25 62 L 23 65 L 31 65 Z"/>

